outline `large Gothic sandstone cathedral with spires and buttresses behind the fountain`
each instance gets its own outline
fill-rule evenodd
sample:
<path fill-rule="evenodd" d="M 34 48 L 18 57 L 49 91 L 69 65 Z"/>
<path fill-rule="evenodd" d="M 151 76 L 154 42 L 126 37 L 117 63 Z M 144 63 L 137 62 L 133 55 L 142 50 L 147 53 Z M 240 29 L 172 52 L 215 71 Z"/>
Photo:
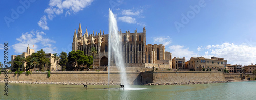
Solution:
<path fill-rule="evenodd" d="M 172 68 L 171 54 L 165 52 L 165 46 L 160 44 L 146 44 L 146 29 L 143 28 L 143 32 L 130 33 L 130 30 L 119 31 L 122 37 L 122 52 L 124 57 L 124 63 L 127 67 L 159 67 L 159 68 Z M 79 24 L 78 31 L 74 32 L 72 50 L 81 50 L 84 54 L 89 55 L 90 49 L 95 47 L 98 51 L 98 55 L 95 57 L 94 66 L 108 66 L 108 36 L 109 34 L 82 33 L 81 23 Z M 113 53 L 112 53 L 113 54 Z M 115 60 L 111 56 L 111 65 L 115 66 Z"/>

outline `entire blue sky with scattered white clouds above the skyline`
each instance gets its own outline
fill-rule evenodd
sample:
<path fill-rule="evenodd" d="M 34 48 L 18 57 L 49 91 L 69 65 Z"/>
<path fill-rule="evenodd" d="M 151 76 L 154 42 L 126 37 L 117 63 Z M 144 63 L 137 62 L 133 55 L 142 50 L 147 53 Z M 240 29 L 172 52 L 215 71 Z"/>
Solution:
<path fill-rule="evenodd" d="M 164 44 L 172 58 L 216 56 L 231 64 L 256 63 L 256 1 L 21 1 L 25 4 L 0 1 L 0 51 L 7 41 L 9 58 L 25 52 L 28 44 L 36 51 L 68 53 L 79 22 L 83 33 L 86 28 L 108 32 L 110 8 L 123 33 L 143 32 L 145 25 L 146 43 Z"/>

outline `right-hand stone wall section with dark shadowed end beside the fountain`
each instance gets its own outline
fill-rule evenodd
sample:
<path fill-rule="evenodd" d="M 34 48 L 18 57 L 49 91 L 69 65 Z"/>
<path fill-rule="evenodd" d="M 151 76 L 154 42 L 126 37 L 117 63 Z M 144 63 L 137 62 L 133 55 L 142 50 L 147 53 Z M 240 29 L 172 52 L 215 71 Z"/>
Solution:
<path fill-rule="evenodd" d="M 203 71 L 149 71 L 142 72 L 142 83 L 182 83 L 226 81 L 222 72 Z"/>

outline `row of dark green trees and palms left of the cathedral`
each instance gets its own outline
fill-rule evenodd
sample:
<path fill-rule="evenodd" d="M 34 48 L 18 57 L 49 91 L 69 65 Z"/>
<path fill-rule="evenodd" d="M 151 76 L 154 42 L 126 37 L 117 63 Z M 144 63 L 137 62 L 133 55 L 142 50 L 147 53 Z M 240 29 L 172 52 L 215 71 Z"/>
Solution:
<path fill-rule="evenodd" d="M 62 71 L 66 71 L 66 66 L 68 65 L 74 66 L 73 68 L 78 71 L 83 66 L 86 66 L 89 69 L 92 68 L 91 65 L 94 62 L 94 57 L 97 55 L 97 50 L 94 47 L 91 48 L 90 55 L 92 56 L 84 55 L 83 51 L 77 50 L 69 52 L 68 55 L 65 52 L 61 52 L 60 55 L 53 53 L 53 56 L 50 58 L 54 58 L 54 62 L 61 66 Z M 51 66 L 53 66 L 50 62 L 50 58 L 46 57 L 46 54 L 42 49 L 32 53 L 31 56 L 26 58 L 17 56 L 14 59 L 12 71 L 29 71 L 30 69 L 34 69 L 32 71 L 35 71 L 35 68 L 39 68 L 38 71 L 46 71 L 43 70 L 45 67 L 51 68 Z M 25 62 L 26 66 L 24 66 Z"/>

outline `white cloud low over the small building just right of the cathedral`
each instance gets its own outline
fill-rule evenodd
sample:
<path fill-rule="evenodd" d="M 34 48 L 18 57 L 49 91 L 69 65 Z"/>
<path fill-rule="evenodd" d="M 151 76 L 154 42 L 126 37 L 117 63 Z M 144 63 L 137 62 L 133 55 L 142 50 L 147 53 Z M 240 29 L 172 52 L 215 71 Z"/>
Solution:
<path fill-rule="evenodd" d="M 172 57 L 185 57 L 186 61 L 190 60 L 191 57 L 198 57 L 199 55 L 195 54 L 193 51 L 190 51 L 189 48 L 184 48 L 182 45 L 172 45 L 169 47 L 171 49 Z"/>

